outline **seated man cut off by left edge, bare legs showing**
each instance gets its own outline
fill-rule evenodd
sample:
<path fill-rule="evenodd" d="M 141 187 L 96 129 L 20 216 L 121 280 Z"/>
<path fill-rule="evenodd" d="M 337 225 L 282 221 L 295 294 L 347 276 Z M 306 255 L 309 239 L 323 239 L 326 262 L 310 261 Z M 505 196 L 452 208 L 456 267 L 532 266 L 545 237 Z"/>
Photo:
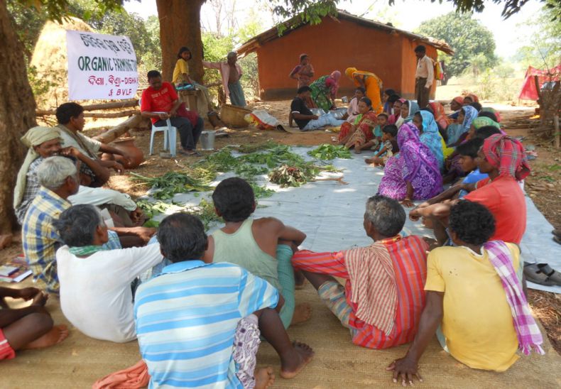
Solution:
<path fill-rule="evenodd" d="M 12 309 L 4 297 L 32 300 L 25 308 Z M 13 359 L 16 351 L 54 346 L 66 339 L 65 325 L 54 326 L 45 309 L 48 295 L 35 287 L 0 287 L 0 361 Z"/>

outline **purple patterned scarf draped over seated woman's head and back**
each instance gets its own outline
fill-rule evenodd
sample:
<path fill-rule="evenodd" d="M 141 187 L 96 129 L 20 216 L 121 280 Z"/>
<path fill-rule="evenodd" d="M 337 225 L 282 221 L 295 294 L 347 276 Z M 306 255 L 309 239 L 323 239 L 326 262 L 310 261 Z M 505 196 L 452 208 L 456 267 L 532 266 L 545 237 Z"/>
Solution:
<path fill-rule="evenodd" d="M 433 170 L 440 176 L 438 161 L 430 148 L 419 138 L 419 130 L 413 123 L 405 123 L 398 131 L 400 158 L 403 158 L 403 180 L 412 182 L 418 175 L 421 165 Z"/>

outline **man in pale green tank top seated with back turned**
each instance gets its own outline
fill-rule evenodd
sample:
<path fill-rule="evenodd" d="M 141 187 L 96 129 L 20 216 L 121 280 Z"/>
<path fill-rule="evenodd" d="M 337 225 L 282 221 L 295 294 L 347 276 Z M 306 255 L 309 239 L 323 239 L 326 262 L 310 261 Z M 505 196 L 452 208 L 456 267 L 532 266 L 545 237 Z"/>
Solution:
<path fill-rule="evenodd" d="M 212 201 L 226 226 L 209 237 L 204 260 L 235 263 L 276 287 L 285 300 L 280 310 L 285 328 L 310 319 L 310 305 L 295 307 L 294 270 L 290 263 L 292 247 L 302 244 L 306 234 L 273 217 L 251 219 L 256 207 L 254 190 L 241 178 L 220 182 Z"/>

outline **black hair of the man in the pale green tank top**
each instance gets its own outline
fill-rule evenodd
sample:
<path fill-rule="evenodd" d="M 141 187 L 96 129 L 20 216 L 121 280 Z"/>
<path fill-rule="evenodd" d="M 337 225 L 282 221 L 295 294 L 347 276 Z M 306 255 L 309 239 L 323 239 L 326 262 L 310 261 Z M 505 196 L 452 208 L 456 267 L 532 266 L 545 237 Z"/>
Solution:
<path fill-rule="evenodd" d="M 239 177 L 220 182 L 212 193 L 212 201 L 224 221 L 244 221 L 255 208 L 254 190 Z"/>

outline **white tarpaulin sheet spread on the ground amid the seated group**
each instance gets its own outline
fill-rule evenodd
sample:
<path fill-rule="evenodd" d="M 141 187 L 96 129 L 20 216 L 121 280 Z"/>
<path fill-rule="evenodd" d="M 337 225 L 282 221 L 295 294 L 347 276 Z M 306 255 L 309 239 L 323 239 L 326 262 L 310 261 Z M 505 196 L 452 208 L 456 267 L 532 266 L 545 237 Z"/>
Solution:
<path fill-rule="evenodd" d="M 310 148 L 293 148 L 293 152 L 305 156 Z M 383 175 L 382 168 L 373 168 L 364 163 L 370 153 L 354 155 L 352 159 L 330 161 L 340 173 L 322 175 L 337 177 L 344 175 L 349 185 L 339 185 L 335 181 L 309 182 L 302 187 L 282 189 L 268 183 L 268 187 L 278 192 L 272 197 L 260 199 L 261 207 L 256 209 L 254 217 L 276 217 L 285 224 L 294 226 L 307 234 L 301 248 L 312 251 L 339 251 L 352 246 L 367 246 L 371 239 L 362 227 L 366 199 L 376 195 L 378 184 Z M 219 176 L 217 183 L 233 174 Z M 268 182 L 263 175 L 263 184 Z M 175 195 L 174 201 L 196 205 L 201 197 L 192 193 Z M 551 224 L 526 197 L 528 205 L 528 225 L 521 242 L 524 261 L 549 263 L 552 268 L 561 270 L 561 246 L 551 239 Z M 265 207 L 263 207 L 265 206 Z M 408 212 L 409 209 L 405 209 Z M 434 237 L 432 230 L 426 229 L 420 222 L 407 219 L 406 234 L 418 234 Z M 211 231 L 212 232 L 212 231 Z M 538 290 L 561 293 L 561 287 L 546 287 L 528 283 L 528 287 Z"/>

